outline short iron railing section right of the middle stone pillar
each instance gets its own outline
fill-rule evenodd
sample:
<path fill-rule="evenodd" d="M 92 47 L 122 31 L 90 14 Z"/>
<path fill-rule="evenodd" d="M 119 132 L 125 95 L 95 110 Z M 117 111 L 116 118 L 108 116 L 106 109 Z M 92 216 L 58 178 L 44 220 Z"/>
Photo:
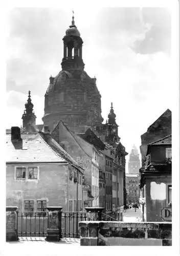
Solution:
<path fill-rule="evenodd" d="M 63 238 L 80 238 L 79 222 L 86 221 L 87 212 L 63 211 L 61 215 L 61 236 Z"/>

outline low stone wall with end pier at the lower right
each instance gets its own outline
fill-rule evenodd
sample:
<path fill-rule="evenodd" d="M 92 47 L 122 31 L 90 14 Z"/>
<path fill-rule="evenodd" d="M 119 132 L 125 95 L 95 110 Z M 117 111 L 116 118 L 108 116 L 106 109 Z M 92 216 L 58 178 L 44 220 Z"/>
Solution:
<path fill-rule="evenodd" d="M 171 246 L 172 223 L 79 222 L 81 246 Z"/>

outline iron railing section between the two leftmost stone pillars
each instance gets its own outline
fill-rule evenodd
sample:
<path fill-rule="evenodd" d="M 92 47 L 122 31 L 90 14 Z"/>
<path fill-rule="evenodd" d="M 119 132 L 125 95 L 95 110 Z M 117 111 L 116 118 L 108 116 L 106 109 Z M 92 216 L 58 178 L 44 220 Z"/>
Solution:
<path fill-rule="evenodd" d="M 48 212 L 18 211 L 18 237 L 46 237 L 48 229 Z"/>

